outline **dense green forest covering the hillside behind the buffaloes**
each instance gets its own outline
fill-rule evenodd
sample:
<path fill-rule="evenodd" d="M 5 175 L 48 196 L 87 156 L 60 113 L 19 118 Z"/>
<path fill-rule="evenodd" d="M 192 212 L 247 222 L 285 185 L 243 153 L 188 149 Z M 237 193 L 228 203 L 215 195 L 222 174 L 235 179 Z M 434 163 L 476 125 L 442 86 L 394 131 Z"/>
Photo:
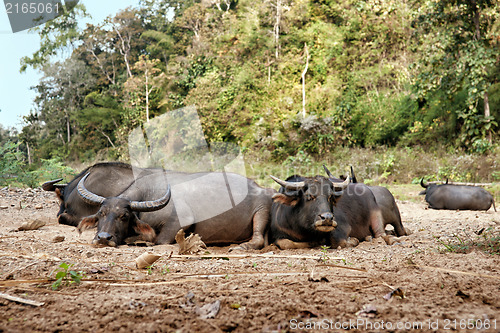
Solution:
<path fill-rule="evenodd" d="M 85 16 L 80 4 L 35 28 L 40 48 L 21 61 L 43 73 L 36 107 L 0 147 L 32 169 L 126 161 L 133 129 L 191 105 L 208 143 L 270 161 L 498 149 L 496 0 L 142 0 Z"/>

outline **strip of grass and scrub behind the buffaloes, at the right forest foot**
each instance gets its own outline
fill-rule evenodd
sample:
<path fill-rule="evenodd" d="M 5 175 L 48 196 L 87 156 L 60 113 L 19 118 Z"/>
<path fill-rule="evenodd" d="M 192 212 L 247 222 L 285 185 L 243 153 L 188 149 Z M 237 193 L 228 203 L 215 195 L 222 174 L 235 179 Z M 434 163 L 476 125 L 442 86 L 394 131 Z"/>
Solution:
<path fill-rule="evenodd" d="M 427 181 L 446 180 L 455 182 L 493 183 L 486 190 L 500 196 L 500 169 L 498 151 L 486 155 L 467 154 L 445 147 L 423 149 L 421 147 L 335 147 L 331 153 L 312 156 L 298 151 L 281 161 L 270 161 L 255 153 L 247 153 L 246 175 L 262 186 L 271 186 L 272 174 L 285 179 L 294 174 L 302 176 L 325 175 L 323 164 L 335 175 L 349 173 L 350 166 L 359 182 L 367 185 L 418 184 L 422 177 Z M 416 187 L 420 191 L 420 187 Z M 413 189 L 413 188 L 411 188 Z M 392 188 L 391 188 L 392 190 Z M 398 198 L 400 200 L 404 197 Z"/>

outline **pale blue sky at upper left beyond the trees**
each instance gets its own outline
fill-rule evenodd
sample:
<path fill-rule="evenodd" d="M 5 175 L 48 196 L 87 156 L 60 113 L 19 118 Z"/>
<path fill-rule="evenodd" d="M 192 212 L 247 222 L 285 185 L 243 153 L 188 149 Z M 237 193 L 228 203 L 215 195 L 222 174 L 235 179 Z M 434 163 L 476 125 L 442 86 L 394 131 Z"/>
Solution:
<path fill-rule="evenodd" d="M 139 0 L 80 0 L 92 16 L 91 23 L 101 23 L 107 16 L 129 6 L 137 7 Z M 86 20 L 86 22 L 88 22 Z M 40 73 L 29 68 L 19 73 L 22 57 L 31 56 L 40 47 L 37 34 L 20 31 L 12 33 L 6 9 L 0 4 L 0 125 L 22 129 L 22 116 L 34 109 L 35 86 Z"/>

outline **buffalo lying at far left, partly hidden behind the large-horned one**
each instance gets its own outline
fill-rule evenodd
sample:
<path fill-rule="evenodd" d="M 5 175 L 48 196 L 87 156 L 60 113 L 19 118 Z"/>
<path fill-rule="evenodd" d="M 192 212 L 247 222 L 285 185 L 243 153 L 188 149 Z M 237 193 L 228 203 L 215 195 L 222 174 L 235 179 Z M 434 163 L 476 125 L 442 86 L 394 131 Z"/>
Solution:
<path fill-rule="evenodd" d="M 80 179 L 87 173 L 90 173 L 86 180 L 89 190 L 103 197 L 114 197 L 129 188 L 136 179 L 163 173 L 163 169 L 132 168 L 131 165 L 120 162 L 97 163 L 83 170 L 68 184 L 57 184 L 62 179 L 44 183 L 42 188 L 45 191 L 54 191 L 61 202 L 57 213 L 59 223 L 76 227 L 83 217 L 99 210 L 98 206 L 84 201 L 76 189 Z"/>

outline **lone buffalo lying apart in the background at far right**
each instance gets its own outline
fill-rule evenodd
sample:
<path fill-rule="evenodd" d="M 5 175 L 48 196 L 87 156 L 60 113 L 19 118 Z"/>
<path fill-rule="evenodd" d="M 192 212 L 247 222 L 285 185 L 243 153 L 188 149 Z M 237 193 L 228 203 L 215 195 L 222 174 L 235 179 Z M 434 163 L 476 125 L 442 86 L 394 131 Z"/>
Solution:
<path fill-rule="evenodd" d="M 425 188 L 420 194 L 425 194 L 425 201 L 433 209 L 452 210 L 488 210 L 491 205 L 497 211 L 493 196 L 484 188 L 453 184 L 425 184 L 424 179 L 420 185 Z"/>

